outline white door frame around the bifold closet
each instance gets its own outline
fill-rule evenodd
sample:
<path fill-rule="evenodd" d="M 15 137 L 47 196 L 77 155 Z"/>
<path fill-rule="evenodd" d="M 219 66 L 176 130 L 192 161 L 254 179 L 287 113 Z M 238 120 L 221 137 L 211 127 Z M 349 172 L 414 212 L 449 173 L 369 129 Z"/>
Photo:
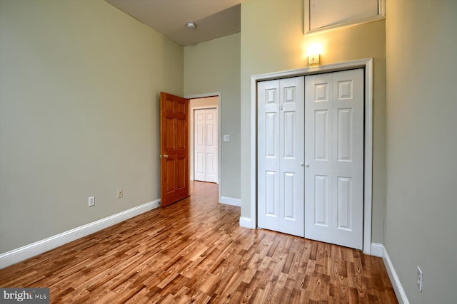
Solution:
<path fill-rule="evenodd" d="M 321 65 L 316 68 L 285 70 L 251 76 L 251 217 L 240 218 L 240 225 L 257 228 L 257 83 L 286 77 L 336 72 L 352 68 L 365 68 L 365 126 L 363 169 L 363 253 L 371 254 L 371 209 L 373 205 L 373 58 Z"/>

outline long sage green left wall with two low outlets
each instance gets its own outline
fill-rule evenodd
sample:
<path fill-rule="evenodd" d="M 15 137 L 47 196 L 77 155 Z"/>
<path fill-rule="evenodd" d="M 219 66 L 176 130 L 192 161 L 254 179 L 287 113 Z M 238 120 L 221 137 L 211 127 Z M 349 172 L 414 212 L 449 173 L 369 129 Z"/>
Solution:
<path fill-rule="evenodd" d="M 1 253 L 160 198 L 181 46 L 105 1 L 1 0 L 0 66 Z"/>

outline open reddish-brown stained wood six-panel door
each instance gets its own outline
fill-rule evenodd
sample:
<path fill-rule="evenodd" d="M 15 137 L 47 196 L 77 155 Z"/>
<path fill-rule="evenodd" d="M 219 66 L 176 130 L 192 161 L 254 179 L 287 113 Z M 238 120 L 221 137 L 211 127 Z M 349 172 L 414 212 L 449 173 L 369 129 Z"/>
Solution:
<path fill-rule="evenodd" d="M 161 206 L 189 196 L 189 100 L 160 93 Z"/>

